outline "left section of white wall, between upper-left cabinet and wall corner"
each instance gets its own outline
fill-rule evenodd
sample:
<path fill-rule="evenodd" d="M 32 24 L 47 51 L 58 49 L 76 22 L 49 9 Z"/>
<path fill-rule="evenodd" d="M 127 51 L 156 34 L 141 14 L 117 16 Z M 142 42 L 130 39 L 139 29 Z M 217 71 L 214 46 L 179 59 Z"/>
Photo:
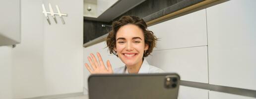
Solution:
<path fill-rule="evenodd" d="M 45 95 L 42 0 L 21 1 L 21 44 L 13 49 L 13 98 Z M 30 14 L 34 13 L 33 16 Z"/>

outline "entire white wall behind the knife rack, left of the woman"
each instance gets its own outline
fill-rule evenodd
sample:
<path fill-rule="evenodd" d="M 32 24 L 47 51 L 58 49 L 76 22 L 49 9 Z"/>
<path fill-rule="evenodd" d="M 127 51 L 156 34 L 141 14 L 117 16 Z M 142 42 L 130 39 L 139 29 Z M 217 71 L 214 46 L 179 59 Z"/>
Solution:
<path fill-rule="evenodd" d="M 58 24 L 42 13 L 59 5 Z M 21 0 L 21 44 L 13 49 L 13 98 L 83 92 L 83 0 Z"/>

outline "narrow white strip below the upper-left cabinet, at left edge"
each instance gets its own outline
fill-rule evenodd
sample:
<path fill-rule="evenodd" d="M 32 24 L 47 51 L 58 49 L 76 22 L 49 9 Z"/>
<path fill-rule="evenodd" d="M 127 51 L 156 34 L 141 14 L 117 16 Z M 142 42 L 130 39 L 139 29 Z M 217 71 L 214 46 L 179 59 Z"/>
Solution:
<path fill-rule="evenodd" d="M 0 99 L 12 99 L 12 48 L 0 46 Z"/>

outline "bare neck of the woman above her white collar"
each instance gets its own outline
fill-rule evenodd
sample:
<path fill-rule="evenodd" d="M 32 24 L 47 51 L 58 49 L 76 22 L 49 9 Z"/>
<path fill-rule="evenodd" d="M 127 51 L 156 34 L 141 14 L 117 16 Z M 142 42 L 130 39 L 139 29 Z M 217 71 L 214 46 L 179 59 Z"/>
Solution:
<path fill-rule="evenodd" d="M 139 61 L 138 63 L 136 63 L 134 65 L 129 65 L 129 66 L 126 65 L 129 74 L 137 74 L 139 72 L 139 69 L 140 69 L 142 63 L 143 63 L 143 60 Z"/>

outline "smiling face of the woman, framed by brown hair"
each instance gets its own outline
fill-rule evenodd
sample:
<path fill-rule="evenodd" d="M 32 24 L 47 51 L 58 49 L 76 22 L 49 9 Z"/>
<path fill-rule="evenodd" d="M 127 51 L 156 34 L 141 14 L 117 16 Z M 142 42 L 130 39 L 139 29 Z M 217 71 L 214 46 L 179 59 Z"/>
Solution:
<path fill-rule="evenodd" d="M 142 30 L 133 24 L 122 26 L 116 35 L 116 48 L 119 58 L 128 66 L 140 63 L 143 58 L 145 45 Z"/>

